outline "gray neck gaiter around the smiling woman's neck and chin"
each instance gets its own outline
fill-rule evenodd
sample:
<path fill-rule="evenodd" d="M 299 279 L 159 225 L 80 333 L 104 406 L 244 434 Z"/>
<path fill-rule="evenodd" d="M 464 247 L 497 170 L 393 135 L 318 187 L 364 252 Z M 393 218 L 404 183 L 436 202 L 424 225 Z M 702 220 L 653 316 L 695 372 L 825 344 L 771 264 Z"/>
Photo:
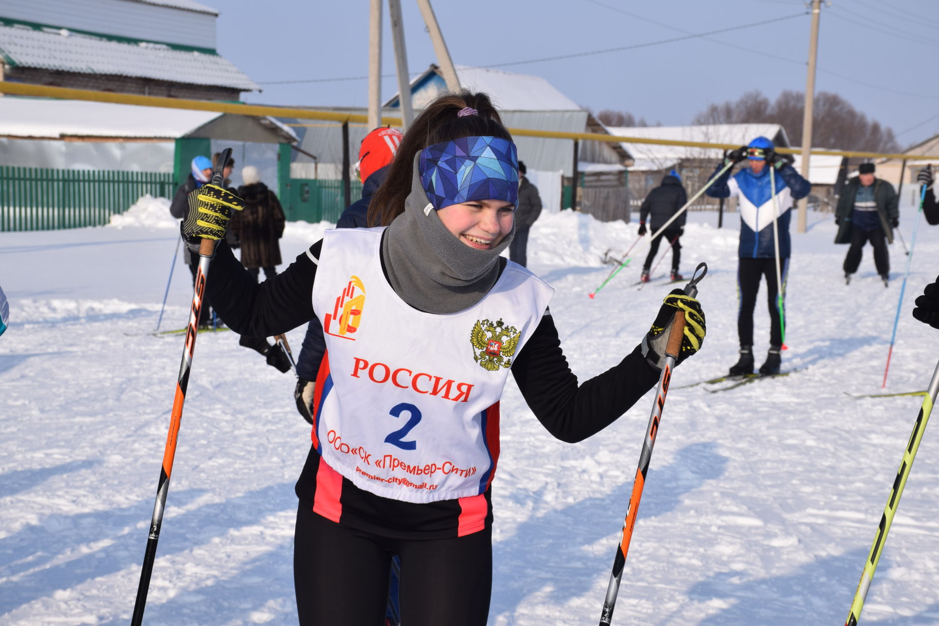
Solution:
<path fill-rule="evenodd" d="M 381 240 L 381 257 L 394 293 L 426 313 L 456 313 L 479 302 L 499 278 L 499 254 L 515 226 L 492 250 L 476 250 L 440 221 L 421 185 L 417 160 L 405 211 Z"/>

